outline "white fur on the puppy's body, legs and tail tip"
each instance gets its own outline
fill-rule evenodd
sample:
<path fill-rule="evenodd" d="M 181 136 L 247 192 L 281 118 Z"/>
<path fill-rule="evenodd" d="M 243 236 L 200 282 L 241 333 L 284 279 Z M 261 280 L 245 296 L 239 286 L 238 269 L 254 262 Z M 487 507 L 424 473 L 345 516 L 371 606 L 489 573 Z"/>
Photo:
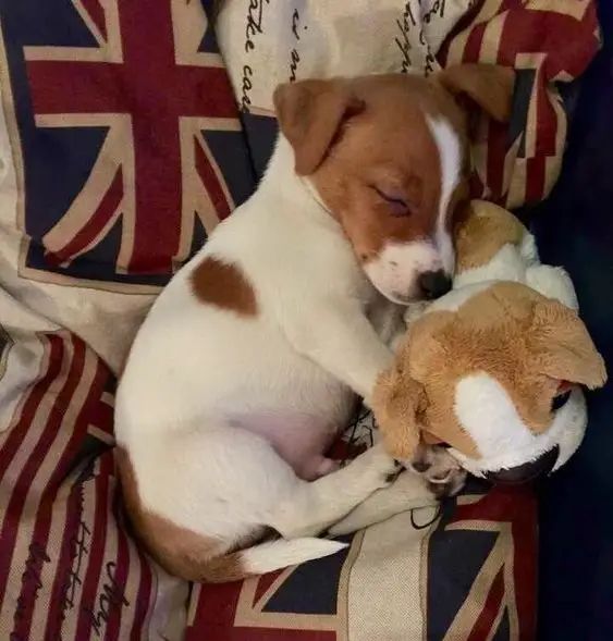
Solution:
<path fill-rule="evenodd" d="M 154 305 L 115 406 L 118 443 L 130 454 L 146 508 L 225 550 L 262 526 L 299 538 L 245 552 L 247 569 L 257 571 L 338 550 L 309 537 L 384 486 L 395 470 L 375 446 L 309 483 L 269 441 L 243 427 L 259 417 L 299 423 L 296 437 L 309 423 L 339 429 L 354 393 L 368 399 L 392 362 L 367 313 L 383 307 L 378 325 L 390 333 L 393 323 L 379 321 L 393 306 L 293 167 L 293 151 L 280 137 L 256 194 Z M 241 269 L 256 295 L 255 317 L 196 298 L 191 276 L 206 257 Z"/>

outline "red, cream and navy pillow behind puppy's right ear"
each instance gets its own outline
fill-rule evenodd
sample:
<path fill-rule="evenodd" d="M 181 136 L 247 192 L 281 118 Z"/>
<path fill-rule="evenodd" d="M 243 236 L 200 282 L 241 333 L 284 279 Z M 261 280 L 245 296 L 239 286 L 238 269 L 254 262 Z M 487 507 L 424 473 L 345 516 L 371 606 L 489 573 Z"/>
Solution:
<path fill-rule="evenodd" d="M 513 209 L 549 196 L 566 141 L 561 87 L 584 73 L 599 48 L 589 0 L 485 0 L 458 22 L 438 53 L 444 66 L 482 62 L 517 74 L 510 125 L 479 122 L 475 198 Z"/>

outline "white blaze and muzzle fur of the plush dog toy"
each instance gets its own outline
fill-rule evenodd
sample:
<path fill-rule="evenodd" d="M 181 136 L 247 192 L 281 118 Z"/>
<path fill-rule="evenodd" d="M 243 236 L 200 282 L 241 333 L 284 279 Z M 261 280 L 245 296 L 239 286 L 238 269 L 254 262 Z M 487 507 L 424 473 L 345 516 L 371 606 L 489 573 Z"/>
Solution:
<path fill-rule="evenodd" d="M 557 468 L 577 449 L 586 428 L 585 399 L 578 389 L 555 412 L 551 427 L 535 434 L 522 420 L 506 390 L 485 372 L 457 383 L 454 409 L 463 429 L 478 444 L 481 458 L 475 460 L 455 449 L 452 454 L 477 476 L 535 460 L 555 445 L 560 446 Z"/>

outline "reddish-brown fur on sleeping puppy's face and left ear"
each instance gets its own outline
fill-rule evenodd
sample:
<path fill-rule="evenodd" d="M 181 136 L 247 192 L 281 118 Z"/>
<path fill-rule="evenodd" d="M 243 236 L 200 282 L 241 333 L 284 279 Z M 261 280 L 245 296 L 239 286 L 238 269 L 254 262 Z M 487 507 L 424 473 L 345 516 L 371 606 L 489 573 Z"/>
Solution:
<path fill-rule="evenodd" d="M 489 77 L 491 67 L 485 73 Z M 461 185 L 446 212 L 451 225 L 467 197 L 470 162 L 466 114 L 444 83 L 403 74 L 304 81 L 282 85 L 275 104 L 298 173 L 311 176 L 363 262 L 377 258 L 387 242 L 433 234 L 441 159 L 427 116 L 445 119 L 463 149 Z M 381 193 L 406 202 L 407 214 L 399 215 Z"/>

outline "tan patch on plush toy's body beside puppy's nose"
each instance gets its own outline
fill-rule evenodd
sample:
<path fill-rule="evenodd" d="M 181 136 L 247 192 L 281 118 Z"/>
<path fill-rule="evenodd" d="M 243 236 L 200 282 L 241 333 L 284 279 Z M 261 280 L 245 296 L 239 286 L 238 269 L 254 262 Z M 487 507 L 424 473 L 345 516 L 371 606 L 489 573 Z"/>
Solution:
<path fill-rule="evenodd" d="M 456 273 L 487 264 L 504 245 L 519 245 L 526 233 L 506 209 L 474 200 L 455 227 Z"/>

